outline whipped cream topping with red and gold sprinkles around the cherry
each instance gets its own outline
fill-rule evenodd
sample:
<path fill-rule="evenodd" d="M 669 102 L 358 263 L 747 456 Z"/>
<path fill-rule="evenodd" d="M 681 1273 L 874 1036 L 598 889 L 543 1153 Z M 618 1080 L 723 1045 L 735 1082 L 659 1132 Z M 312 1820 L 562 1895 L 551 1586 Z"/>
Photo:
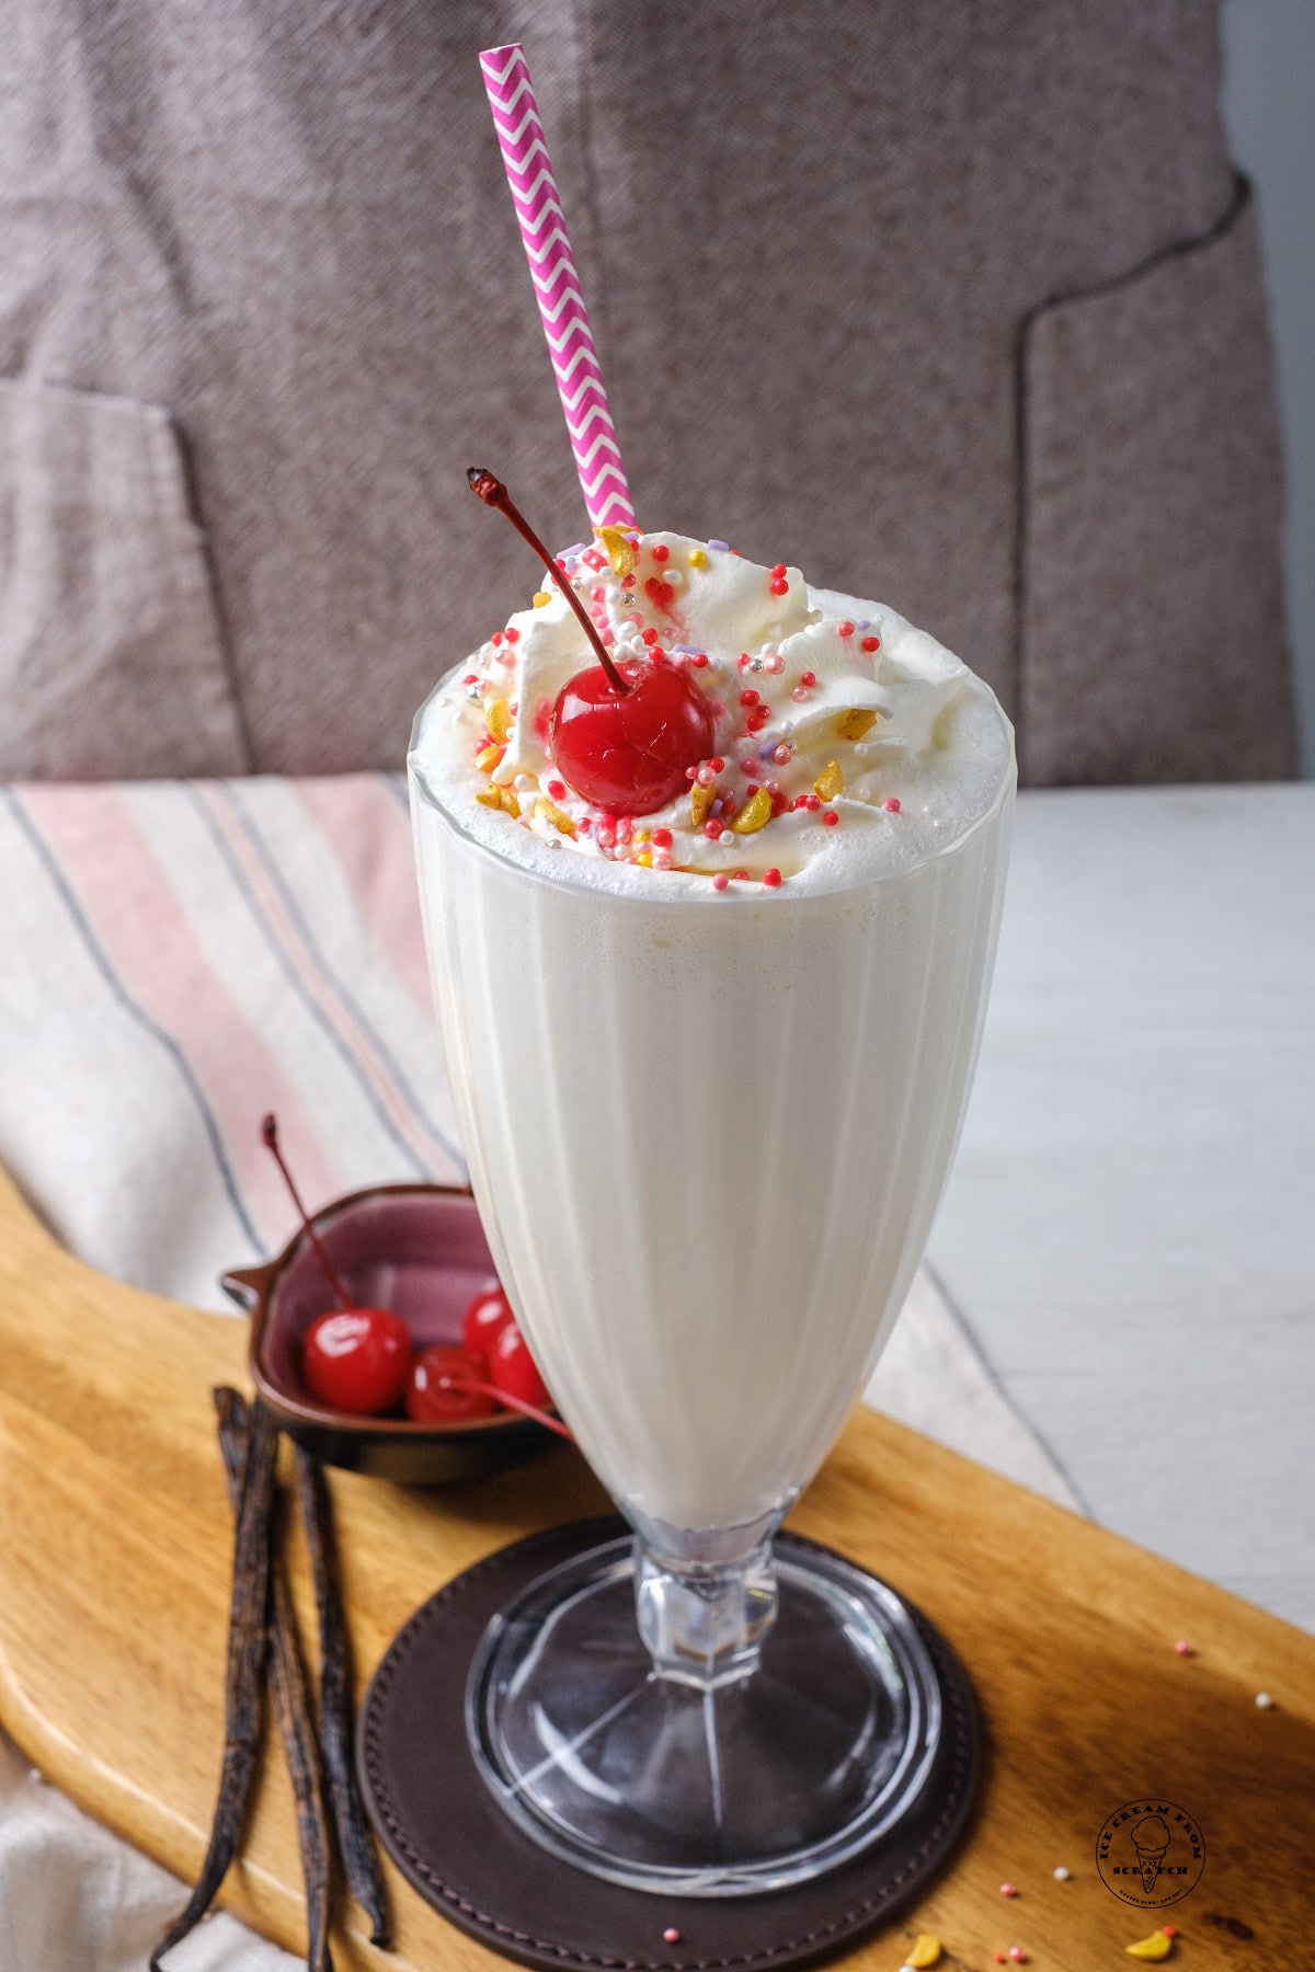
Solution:
<path fill-rule="evenodd" d="M 651 814 L 584 801 L 550 757 L 548 716 L 597 657 L 546 584 L 442 680 L 412 743 L 430 791 L 517 862 L 657 895 L 830 891 L 938 854 L 1011 771 L 988 686 L 885 603 L 670 532 L 607 528 L 558 566 L 613 659 L 686 667 L 716 751 Z"/>

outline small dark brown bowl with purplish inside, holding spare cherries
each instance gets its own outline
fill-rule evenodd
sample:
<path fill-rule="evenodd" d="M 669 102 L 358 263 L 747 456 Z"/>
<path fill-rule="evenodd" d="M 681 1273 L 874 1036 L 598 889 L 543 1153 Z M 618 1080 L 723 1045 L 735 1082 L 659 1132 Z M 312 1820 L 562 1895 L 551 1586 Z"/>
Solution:
<path fill-rule="evenodd" d="M 493 1254 L 475 1199 L 450 1185 L 377 1185 L 315 1213 L 341 1282 L 357 1307 L 392 1307 L 416 1349 L 459 1343 L 461 1315 L 497 1286 Z M 394 1479 L 450 1485 L 481 1479 L 554 1444 L 530 1418 L 495 1412 L 461 1424 L 359 1418 L 331 1410 L 302 1378 L 302 1339 L 337 1300 L 304 1232 L 264 1266 L 235 1268 L 221 1286 L 250 1313 L 250 1374 L 290 1438 L 325 1465 Z"/>

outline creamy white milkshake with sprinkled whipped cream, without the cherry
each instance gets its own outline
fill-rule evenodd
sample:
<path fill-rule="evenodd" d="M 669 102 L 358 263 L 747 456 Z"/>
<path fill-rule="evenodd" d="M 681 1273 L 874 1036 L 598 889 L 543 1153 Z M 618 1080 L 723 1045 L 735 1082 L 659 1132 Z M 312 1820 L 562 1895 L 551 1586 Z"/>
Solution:
<path fill-rule="evenodd" d="M 560 706 L 591 653 L 554 588 L 422 708 L 412 812 L 471 1183 L 635 1524 L 767 1524 L 871 1373 L 944 1185 L 1011 734 L 934 639 L 785 564 L 605 530 L 560 566 L 627 676 L 700 694 L 710 741 L 649 812 L 582 793 Z M 599 761 L 605 781 L 591 741 L 580 777 Z"/>

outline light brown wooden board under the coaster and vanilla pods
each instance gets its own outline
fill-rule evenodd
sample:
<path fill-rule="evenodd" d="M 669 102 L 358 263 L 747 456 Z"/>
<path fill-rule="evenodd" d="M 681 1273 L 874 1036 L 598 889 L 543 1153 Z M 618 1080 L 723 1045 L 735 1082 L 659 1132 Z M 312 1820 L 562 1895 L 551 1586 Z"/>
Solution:
<path fill-rule="evenodd" d="M 0 1720 L 51 1781 L 183 1877 L 201 1862 L 223 1739 L 217 1382 L 246 1388 L 241 1321 L 71 1260 L 0 1173 Z M 1226 1475 L 1201 1483 L 1226 1513 Z M 444 1493 L 333 1473 L 333 1501 L 361 1684 L 450 1576 L 605 1509 L 570 1449 Z M 992 1745 L 950 1869 L 854 1964 L 895 1972 L 931 1931 L 952 1966 L 986 1972 L 1021 1944 L 1039 1968 L 1092 1972 L 1130 1964 L 1128 1942 L 1175 1921 L 1183 1966 L 1315 1966 L 1315 1639 L 865 1410 L 791 1524 L 923 1605 L 976 1680 Z M 296 1536 L 294 1593 L 310 1637 Z M 1179 1637 L 1195 1656 L 1175 1655 Z M 1260 1690 L 1272 1710 L 1256 1708 Z M 1207 1842 L 1201 1885 L 1159 1917 L 1120 1903 L 1094 1856 L 1104 1818 L 1151 1795 Z M 1055 1881 L 1059 1864 L 1071 1881 Z M 1019 1895 L 1002 1899 L 1002 1881 Z M 396 1952 L 373 1950 L 351 1913 L 339 1966 L 499 1962 L 392 1869 L 388 1889 Z M 304 1950 L 276 1741 L 223 1903 Z"/>

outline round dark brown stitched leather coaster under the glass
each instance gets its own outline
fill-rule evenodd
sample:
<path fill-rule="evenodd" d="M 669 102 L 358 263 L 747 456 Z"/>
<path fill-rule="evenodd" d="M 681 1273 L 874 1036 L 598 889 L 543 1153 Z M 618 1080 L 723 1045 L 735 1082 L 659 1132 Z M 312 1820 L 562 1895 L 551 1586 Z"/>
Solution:
<path fill-rule="evenodd" d="M 361 1708 L 357 1763 L 381 1840 L 426 1903 L 528 1966 L 718 1972 L 816 1964 L 883 1925 L 954 1848 L 978 1779 L 968 1676 L 919 1609 L 940 1678 L 944 1729 L 909 1818 L 814 1883 L 763 1897 L 658 1897 L 603 1883 L 550 1856 L 501 1812 L 465 1741 L 465 1674 L 493 1615 L 536 1576 L 623 1520 L 532 1534 L 457 1576 L 394 1637 Z M 783 1550 L 812 1542 L 779 1534 Z M 680 1933 L 666 1944 L 662 1933 Z"/>

